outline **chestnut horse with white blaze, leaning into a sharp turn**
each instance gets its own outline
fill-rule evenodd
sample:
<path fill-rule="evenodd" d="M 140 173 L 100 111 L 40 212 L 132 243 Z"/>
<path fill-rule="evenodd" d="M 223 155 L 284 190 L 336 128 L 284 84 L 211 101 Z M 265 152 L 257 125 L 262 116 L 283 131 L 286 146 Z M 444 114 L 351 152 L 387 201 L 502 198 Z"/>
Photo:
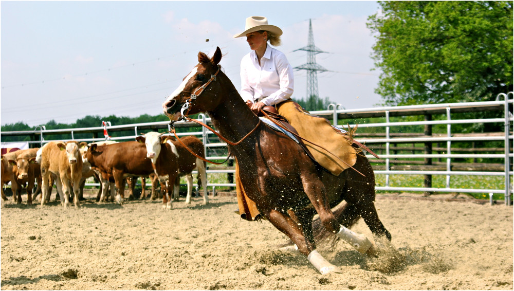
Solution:
<path fill-rule="evenodd" d="M 172 123 L 209 114 L 219 136 L 230 141 L 247 196 L 321 274 L 341 270 L 316 250 L 316 214 L 320 233 L 336 234 L 359 252 L 376 254 L 373 243 L 348 229 L 360 216 L 376 237 L 391 240 L 374 205 L 375 176 L 368 159 L 358 154 L 355 165 L 339 176 L 326 171 L 296 141 L 260 121 L 221 70 L 221 59 L 219 47 L 212 58 L 199 52 L 198 64 L 162 103 L 164 114 Z M 332 208 L 343 201 L 336 216 Z"/>

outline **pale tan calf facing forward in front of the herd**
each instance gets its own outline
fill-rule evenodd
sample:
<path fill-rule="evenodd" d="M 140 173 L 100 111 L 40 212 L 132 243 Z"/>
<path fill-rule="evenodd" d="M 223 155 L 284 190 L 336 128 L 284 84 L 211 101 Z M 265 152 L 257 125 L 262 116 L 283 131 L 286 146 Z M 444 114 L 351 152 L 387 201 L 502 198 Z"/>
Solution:
<path fill-rule="evenodd" d="M 40 160 L 38 160 L 40 159 Z M 41 165 L 41 176 L 43 178 L 43 187 L 41 195 L 41 206 L 44 206 L 50 200 L 49 178 L 50 175 L 56 175 L 57 190 L 61 189 L 61 204 L 64 208 L 68 208 L 69 194 L 74 193 L 75 207 L 80 207 L 79 191 L 80 180 L 82 178 L 82 156 L 79 151 L 79 143 L 76 141 L 58 142 L 50 141 L 43 145 L 38 151 L 36 161 Z M 70 189 L 70 185 L 73 189 Z"/>

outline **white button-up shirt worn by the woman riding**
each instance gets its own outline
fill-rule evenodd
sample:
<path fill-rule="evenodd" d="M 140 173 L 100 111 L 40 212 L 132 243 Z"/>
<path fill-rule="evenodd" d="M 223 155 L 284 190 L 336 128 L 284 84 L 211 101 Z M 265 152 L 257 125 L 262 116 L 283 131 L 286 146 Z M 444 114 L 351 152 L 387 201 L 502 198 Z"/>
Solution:
<path fill-rule="evenodd" d="M 241 97 L 271 106 L 291 97 L 294 85 L 292 67 L 284 53 L 267 45 L 261 65 L 254 50 L 241 60 Z"/>

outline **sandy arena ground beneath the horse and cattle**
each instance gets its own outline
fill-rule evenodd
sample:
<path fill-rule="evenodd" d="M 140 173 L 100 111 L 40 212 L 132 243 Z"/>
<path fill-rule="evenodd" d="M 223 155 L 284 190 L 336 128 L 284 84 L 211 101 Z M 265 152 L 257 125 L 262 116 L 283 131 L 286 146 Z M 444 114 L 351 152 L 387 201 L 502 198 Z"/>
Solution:
<path fill-rule="evenodd" d="M 343 242 L 320 247 L 342 270 L 325 276 L 277 250 L 287 238 L 269 222 L 241 220 L 233 196 L 181 197 L 171 211 L 86 195 L 80 209 L 27 207 L 24 196 L 2 202 L 1 288 L 512 290 L 511 206 L 395 196 L 376 201 L 392 247 L 375 259 Z M 372 238 L 362 221 L 353 230 Z"/>

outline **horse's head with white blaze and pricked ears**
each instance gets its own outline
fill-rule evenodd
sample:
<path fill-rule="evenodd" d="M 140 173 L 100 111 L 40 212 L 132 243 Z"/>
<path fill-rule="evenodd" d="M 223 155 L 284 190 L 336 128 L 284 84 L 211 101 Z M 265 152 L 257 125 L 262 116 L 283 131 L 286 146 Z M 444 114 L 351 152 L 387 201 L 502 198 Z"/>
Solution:
<path fill-rule="evenodd" d="M 221 59 L 222 52 L 219 47 L 211 59 L 203 52 L 198 53 L 198 65 L 162 103 L 164 114 L 171 121 L 176 121 L 183 115 L 210 111 L 217 106 L 222 94 L 213 94 L 213 87 L 217 86 L 215 80 Z"/>

